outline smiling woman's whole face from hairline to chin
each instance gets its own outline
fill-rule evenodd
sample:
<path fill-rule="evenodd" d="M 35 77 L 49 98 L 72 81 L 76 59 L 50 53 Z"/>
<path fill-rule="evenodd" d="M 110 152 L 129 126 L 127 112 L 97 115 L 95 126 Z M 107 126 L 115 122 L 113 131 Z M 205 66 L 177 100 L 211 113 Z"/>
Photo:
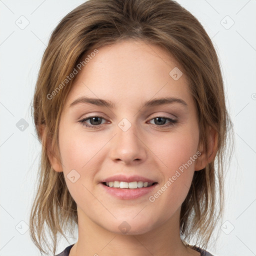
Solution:
<path fill-rule="evenodd" d="M 159 46 L 122 41 L 92 55 L 65 101 L 53 168 L 78 218 L 142 234 L 177 216 L 187 195 L 200 154 L 195 104 L 182 67 Z"/>

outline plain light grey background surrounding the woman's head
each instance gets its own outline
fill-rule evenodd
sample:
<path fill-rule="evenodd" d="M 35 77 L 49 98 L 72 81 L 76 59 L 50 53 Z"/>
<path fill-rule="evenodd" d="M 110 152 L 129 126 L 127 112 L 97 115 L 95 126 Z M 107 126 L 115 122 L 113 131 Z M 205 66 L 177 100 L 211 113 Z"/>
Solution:
<path fill-rule="evenodd" d="M 40 255 L 27 230 L 40 152 L 30 103 L 51 31 L 82 2 L 0 0 L 0 256 Z M 208 250 L 219 256 L 256 255 L 256 1 L 178 2 L 213 40 L 235 131 L 235 152 L 225 178 L 224 223 Z M 21 118 L 28 127 L 20 126 Z M 67 245 L 63 239 L 57 252 Z"/>

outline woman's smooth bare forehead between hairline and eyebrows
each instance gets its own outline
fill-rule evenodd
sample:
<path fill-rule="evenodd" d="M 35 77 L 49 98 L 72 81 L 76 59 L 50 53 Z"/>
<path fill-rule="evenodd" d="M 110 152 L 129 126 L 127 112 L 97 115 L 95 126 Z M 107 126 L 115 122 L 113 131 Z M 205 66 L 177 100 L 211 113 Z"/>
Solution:
<path fill-rule="evenodd" d="M 80 96 L 113 99 L 123 104 L 127 103 L 125 100 L 144 101 L 161 96 L 191 100 L 182 67 L 162 47 L 123 40 L 97 50 L 96 54 L 87 52 L 84 56 L 86 64 L 76 74 L 67 103 Z M 173 79 L 175 73 L 178 79 Z"/>

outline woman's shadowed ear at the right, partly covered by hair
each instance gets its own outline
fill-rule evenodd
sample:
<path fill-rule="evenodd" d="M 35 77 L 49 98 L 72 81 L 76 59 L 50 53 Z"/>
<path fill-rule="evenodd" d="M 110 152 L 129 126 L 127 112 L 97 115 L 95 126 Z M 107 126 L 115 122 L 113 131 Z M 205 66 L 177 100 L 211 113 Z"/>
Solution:
<path fill-rule="evenodd" d="M 215 158 L 217 153 L 217 140 L 217 131 L 210 126 L 207 132 L 208 155 L 206 155 L 206 150 L 203 145 L 200 144 L 198 151 L 200 151 L 201 154 L 197 157 L 195 161 L 194 170 L 203 169 L 209 162 L 211 162 Z"/>

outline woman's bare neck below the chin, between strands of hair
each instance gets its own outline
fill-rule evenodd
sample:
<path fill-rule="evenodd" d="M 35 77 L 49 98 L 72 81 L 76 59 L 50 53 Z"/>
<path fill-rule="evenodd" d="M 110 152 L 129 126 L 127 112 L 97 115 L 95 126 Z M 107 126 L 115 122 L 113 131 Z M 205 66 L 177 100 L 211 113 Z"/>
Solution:
<path fill-rule="evenodd" d="M 179 210 L 162 225 L 143 234 L 122 234 L 110 232 L 93 222 L 81 209 L 78 213 L 78 240 L 72 246 L 69 256 L 87 255 L 200 255 L 186 248 L 179 234 Z"/>

